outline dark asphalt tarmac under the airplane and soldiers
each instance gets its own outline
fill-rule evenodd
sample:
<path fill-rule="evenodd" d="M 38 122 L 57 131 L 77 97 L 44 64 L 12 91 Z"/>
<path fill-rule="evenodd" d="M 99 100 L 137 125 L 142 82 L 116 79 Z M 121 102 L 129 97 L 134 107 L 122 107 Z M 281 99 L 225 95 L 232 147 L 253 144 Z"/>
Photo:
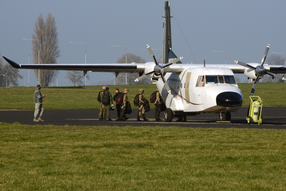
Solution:
<path fill-rule="evenodd" d="M 45 108 L 45 105 L 43 105 Z M 219 122 L 219 114 L 201 113 L 196 116 L 187 116 L 187 122 L 164 122 L 164 112 L 160 118 L 163 121 L 154 119 L 154 109 L 146 112 L 149 121 L 136 121 L 138 109 L 132 109 L 132 113 L 126 121 L 116 121 L 116 110 L 110 111 L 112 121 L 99 121 L 98 109 L 90 110 L 44 110 L 42 119 L 44 122 L 34 122 L 34 111 L 31 110 L 0 110 L 0 122 L 15 123 L 26 125 L 71 125 L 71 126 L 97 126 L 97 125 L 117 125 L 117 126 L 179 126 L 179 127 L 205 127 L 205 128 L 259 128 L 259 129 L 286 129 L 286 107 L 262 107 L 261 116 L 264 118 L 263 125 L 257 123 L 247 124 L 247 107 L 242 107 L 237 113 L 231 113 L 231 123 Z M 107 118 L 107 114 L 106 114 Z M 142 116 L 141 116 L 142 119 Z"/>

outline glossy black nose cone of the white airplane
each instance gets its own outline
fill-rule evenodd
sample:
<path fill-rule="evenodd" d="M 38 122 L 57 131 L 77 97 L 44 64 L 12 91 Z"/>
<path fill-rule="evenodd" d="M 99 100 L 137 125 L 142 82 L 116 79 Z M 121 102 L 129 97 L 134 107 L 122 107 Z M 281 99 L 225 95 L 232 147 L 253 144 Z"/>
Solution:
<path fill-rule="evenodd" d="M 242 105 L 242 96 L 236 92 L 222 92 L 217 95 L 217 105 L 223 107 L 237 107 Z"/>

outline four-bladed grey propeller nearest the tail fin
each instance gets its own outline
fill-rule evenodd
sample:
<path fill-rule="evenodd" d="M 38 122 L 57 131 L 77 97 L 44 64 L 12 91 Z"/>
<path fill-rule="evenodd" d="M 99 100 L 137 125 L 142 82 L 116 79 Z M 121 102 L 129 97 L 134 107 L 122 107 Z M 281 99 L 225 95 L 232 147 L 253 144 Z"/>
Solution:
<path fill-rule="evenodd" d="M 156 73 L 156 74 L 160 74 L 163 82 L 164 82 L 164 86 L 165 88 L 167 89 L 168 93 L 170 94 L 171 93 L 171 90 L 170 90 L 170 87 L 166 81 L 166 79 L 164 78 L 164 75 L 163 75 L 163 68 L 166 68 L 167 66 L 170 66 L 171 64 L 174 64 L 176 62 L 179 62 L 180 60 L 183 59 L 183 57 L 180 57 L 180 58 L 176 58 L 174 60 L 172 60 L 171 62 L 168 62 L 167 64 L 165 64 L 164 66 L 160 65 L 157 63 L 156 61 L 156 58 L 153 54 L 153 51 L 151 49 L 151 47 L 147 44 L 147 49 L 148 49 L 148 52 L 153 60 L 153 62 L 156 64 L 156 66 L 154 66 L 154 70 L 151 71 L 151 72 L 148 72 L 147 74 L 143 74 L 142 76 L 140 76 L 139 78 L 135 79 L 135 82 L 138 82 L 139 80 L 143 80 L 144 78 L 147 78 L 148 76 L 150 76 L 151 74 L 153 73 Z"/>

